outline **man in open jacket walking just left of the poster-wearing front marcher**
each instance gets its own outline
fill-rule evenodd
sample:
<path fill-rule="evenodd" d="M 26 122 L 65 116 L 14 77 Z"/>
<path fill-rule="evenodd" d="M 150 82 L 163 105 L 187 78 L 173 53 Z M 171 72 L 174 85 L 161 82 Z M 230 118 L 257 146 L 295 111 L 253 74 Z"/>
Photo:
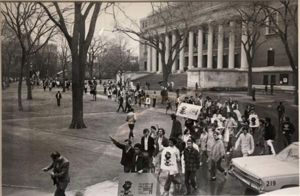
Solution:
<path fill-rule="evenodd" d="M 168 147 L 168 139 L 164 137 L 164 129 L 158 129 L 157 135 L 153 156 L 155 157 L 155 173 L 158 173 L 159 176 L 161 152 L 164 147 Z"/>

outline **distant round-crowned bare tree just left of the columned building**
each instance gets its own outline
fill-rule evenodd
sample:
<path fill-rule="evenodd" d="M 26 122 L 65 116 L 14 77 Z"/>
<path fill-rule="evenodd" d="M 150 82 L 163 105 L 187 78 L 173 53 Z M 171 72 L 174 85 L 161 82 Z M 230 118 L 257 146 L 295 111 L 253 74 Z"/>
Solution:
<path fill-rule="evenodd" d="M 130 66 L 132 54 L 128 40 L 123 35 L 117 34 L 110 43 L 104 62 L 115 75 L 119 76 L 121 85 L 122 76 L 126 74 L 125 70 Z"/>

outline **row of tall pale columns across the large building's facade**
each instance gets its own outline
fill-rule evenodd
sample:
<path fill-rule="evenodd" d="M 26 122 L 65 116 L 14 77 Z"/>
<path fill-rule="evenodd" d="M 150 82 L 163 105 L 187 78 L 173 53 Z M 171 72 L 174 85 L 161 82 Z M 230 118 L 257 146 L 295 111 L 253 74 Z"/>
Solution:
<path fill-rule="evenodd" d="M 230 27 L 234 26 L 234 22 L 230 22 Z M 202 65 L 202 53 L 203 53 L 203 30 L 198 29 L 198 45 L 197 45 L 197 67 L 201 68 Z M 208 36 L 207 36 L 207 68 L 212 68 L 212 37 L 213 37 L 213 29 L 208 28 Z M 243 42 L 247 39 L 246 35 L 242 33 L 241 39 Z M 176 42 L 176 34 L 172 33 L 172 43 Z M 223 26 L 218 26 L 218 42 L 217 42 L 217 69 L 223 68 Z M 228 69 L 234 68 L 234 45 L 235 45 L 235 36 L 234 32 L 229 32 L 229 48 L 228 48 Z M 183 46 L 183 41 L 180 42 L 180 48 Z M 165 61 L 168 60 L 168 51 L 169 51 L 169 37 L 165 36 Z M 159 48 L 161 48 L 161 43 L 159 43 Z M 152 57 L 151 57 L 152 53 Z M 176 51 L 173 52 L 172 58 L 174 58 Z M 240 68 L 247 68 L 247 58 L 246 53 L 241 44 L 241 62 Z M 176 70 L 175 62 L 172 65 L 172 71 Z M 147 52 L 147 71 L 156 71 L 156 49 L 153 47 L 148 48 Z M 188 69 L 191 69 L 193 66 L 193 32 L 189 32 L 188 34 Z M 183 70 L 184 67 L 184 51 L 183 49 L 179 52 L 179 70 Z M 161 64 L 161 55 L 158 54 L 158 72 L 162 71 Z"/>

